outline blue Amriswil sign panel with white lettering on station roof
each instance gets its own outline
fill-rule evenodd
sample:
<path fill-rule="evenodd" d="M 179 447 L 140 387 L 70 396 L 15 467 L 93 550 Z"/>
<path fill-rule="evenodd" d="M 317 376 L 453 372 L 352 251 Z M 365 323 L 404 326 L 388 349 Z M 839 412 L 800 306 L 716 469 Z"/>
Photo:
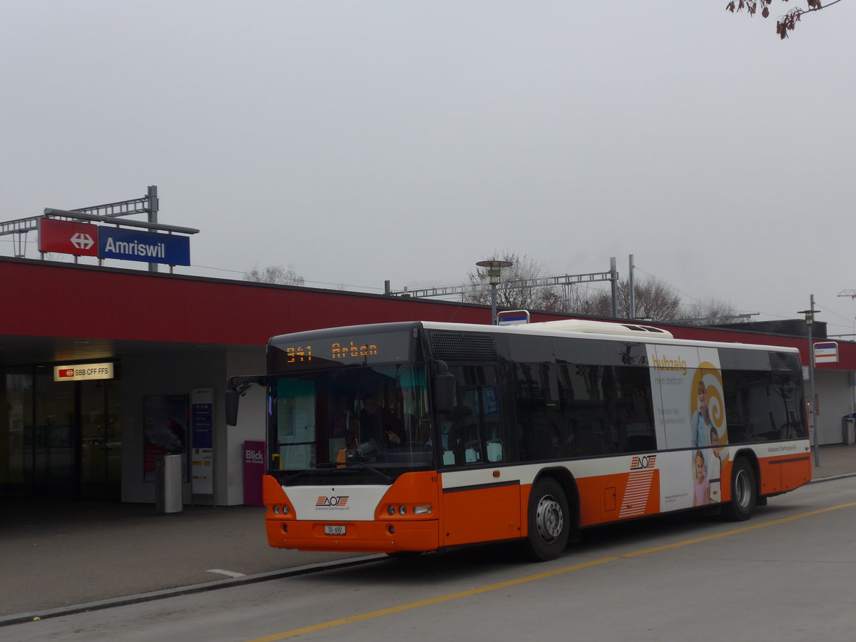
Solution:
<path fill-rule="evenodd" d="M 190 265 L 190 237 L 101 226 L 98 259 Z"/>

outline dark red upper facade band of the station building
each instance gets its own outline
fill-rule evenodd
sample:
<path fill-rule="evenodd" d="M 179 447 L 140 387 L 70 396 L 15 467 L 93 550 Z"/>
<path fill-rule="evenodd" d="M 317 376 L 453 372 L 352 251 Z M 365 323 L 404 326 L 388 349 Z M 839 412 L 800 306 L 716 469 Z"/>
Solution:
<path fill-rule="evenodd" d="M 0 259 L 0 335 L 92 337 L 156 342 L 265 345 L 270 336 L 385 321 L 489 323 L 490 311 L 449 301 L 217 281 L 27 259 Z M 549 321 L 565 315 L 532 315 Z M 677 338 L 796 347 L 805 337 L 657 324 Z M 856 343 L 839 342 L 840 362 L 856 370 Z"/>

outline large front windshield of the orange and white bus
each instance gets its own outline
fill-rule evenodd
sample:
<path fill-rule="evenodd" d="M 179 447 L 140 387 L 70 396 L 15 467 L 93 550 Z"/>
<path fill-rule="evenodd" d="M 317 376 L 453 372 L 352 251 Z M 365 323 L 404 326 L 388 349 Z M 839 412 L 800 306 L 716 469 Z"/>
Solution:
<path fill-rule="evenodd" d="M 425 366 L 348 366 L 273 377 L 270 448 L 283 471 L 430 469 Z"/>

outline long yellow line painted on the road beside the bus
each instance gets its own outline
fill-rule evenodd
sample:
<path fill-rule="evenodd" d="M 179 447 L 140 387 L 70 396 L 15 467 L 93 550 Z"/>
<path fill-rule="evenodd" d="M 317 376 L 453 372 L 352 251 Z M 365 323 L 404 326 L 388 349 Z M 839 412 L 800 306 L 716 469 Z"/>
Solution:
<path fill-rule="evenodd" d="M 499 582 L 498 584 L 490 584 L 488 586 L 480 586 L 479 588 L 470 589 L 469 591 L 461 591 L 458 593 L 450 593 L 449 595 L 442 595 L 439 597 L 431 597 L 431 599 L 419 600 L 419 602 L 411 602 L 407 604 L 401 604 L 400 606 L 393 606 L 389 609 L 380 609 L 377 611 L 372 611 L 370 613 L 362 613 L 360 615 L 350 615 L 349 617 L 342 617 L 338 620 L 330 620 L 326 622 L 321 622 L 320 624 L 313 624 L 309 627 L 295 628 L 291 631 L 283 631 L 282 633 L 273 633 L 272 635 L 266 635 L 262 638 L 253 638 L 248 639 L 245 642 L 276 642 L 276 640 L 280 639 L 288 639 L 294 638 L 298 635 L 305 635 L 306 633 L 313 633 L 315 631 L 324 631 L 324 629 L 341 627 L 345 624 L 353 624 L 354 622 L 364 621 L 364 620 L 372 620 L 376 617 L 382 617 L 383 615 L 392 615 L 394 613 L 401 613 L 402 611 L 407 611 L 411 609 L 420 609 L 424 606 L 431 606 L 432 604 L 439 604 L 443 602 L 449 602 L 451 600 L 460 599 L 461 597 L 470 597 L 473 595 L 479 595 L 481 593 L 488 593 L 490 591 L 497 591 L 502 588 L 508 588 L 508 586 L 517 586 L 520 584 L 526 584 L 527 582 L 534 582 L 537 580 L 546 580 L 550 577 L 555 577 L 556 575 L 562 575 L 566 573 L 571 573 L 572 571 L 579 571 L 582 568 L 591 568 L 593 566 L 598 566 L 600 564 L 605 564 L 607 562 L 616 562 L 624 557 L 637 557 L 641 555 L 648 555 L 650 553 L 657 553 L 661 550 L 669 550 L 669 549 L 677 549 L 681 546 L 688 546 L 690 544 L 698 544 L 699 542 L 707 542 L 711 539 L 717 538 L 725 538 L 730 535 L 737 535 L 741 532 L 749 532 L 754 531 L 758 528 L 766 528 L 767 526 L 776 526 L 777 524 L 784 524 L 788 521 L 801 520 L 805 517 L 812 517 L 814 515 L 819 515 L 823 513 L 829 513 L 834 510 L 841 510 L 841 508 L 853 508 L 856 506 L 856 502 L 847 503 L 847 504 L 839 504 L 838 506 L 830 506 L 829 508 L 820 508 L 818 510 L 812 510 L 808 513 L 800 513 L 796 515 L 791 515 L 790 517 L 782 517 L 781 520 L 771 520 L 765 521 L 761 524 L 752 524 L 752 526 L 744 526 L 743 528 L 735 528 L 731 531 L 719 532 L 714 535 L 706 535 L 703 538 L 693 538 L 693 539 L 685 539 L 681 542 L 676 542 L 675 544 L 665 544 L 663 546 L 655 546 L 651 549 L 645 550 L 635 550 L 631 553 L 624 553 L 623 555 L 616 557 L 601 557 L 600 559 L 593 560 L 591 562 L 583 562 L 580 564 L 574 564 L 574 566 L 568 566 L 563 568 L 556 568 L 553 571 L 547 571 L 545 573 L 539 573 L 535 575 L 528 575 L 526 577 L 517 578 L 516 580 L 508 580 L 505 582 Z"/>

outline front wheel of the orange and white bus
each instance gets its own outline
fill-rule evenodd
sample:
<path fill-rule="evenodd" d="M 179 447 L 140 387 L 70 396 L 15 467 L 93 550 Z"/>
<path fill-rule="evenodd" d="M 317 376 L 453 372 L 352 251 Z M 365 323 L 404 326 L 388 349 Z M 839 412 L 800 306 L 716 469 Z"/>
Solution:
<path fill-rule="evenodd" d="M 527 514 L 526 557 L 546 562 L 562 555 L 568 546 L 571 515 L 565 491 L 556 479 L 546 477 L 532 486 Z"/>

